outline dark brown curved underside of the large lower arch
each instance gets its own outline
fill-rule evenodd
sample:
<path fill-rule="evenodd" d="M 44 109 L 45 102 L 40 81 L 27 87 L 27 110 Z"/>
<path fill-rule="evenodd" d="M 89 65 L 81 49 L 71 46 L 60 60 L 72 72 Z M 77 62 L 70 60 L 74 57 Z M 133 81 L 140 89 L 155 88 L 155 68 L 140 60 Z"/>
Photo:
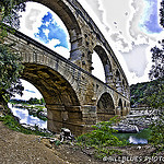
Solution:
<path fill-rule="evenodd" d="M 38 89 L 46 104 L 72 106 L 80 105 L 78 96 L 69 82 L 52 69 L 35 63 L 24 63 L 22 79 Z"/>

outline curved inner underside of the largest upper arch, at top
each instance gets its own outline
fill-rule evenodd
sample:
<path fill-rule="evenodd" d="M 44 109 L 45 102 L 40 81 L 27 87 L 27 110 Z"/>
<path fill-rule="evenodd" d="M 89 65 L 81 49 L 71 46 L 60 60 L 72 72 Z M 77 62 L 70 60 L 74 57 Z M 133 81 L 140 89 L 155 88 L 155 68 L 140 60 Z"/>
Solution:
<path fill-rule="evenodd" d="M 81 56 L 79 47 L 82 45 L 81 28 L 71 10 L 71 5 L 65 1 L 59 0 L 28 0 L 27 2 L 37 2 L 55 12 L 66 25 L 70 35 L 70 59 L 73 61 Z"/>

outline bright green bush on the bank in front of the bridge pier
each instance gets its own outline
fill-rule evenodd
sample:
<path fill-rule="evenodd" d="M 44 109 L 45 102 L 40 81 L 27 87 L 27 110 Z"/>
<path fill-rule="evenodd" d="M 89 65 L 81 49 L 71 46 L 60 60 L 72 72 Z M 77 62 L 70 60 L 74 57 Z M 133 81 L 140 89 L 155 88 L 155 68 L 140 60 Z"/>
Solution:
<path fill-rule="evenodd" d="M 125 142 L 120 141 L 114 134 L 117 130 L 112 128 L 112 126 L 118 122 L 118 120 L 119 119 L 117 117 L 113 117 L 109 121 L 98 122 L 96 126 L 93 126 L 93 131 L 78 137 L 77 144 L 82 148 L 94 148 L 94 155 L 96 159 L 103 159 L 104 156 L 108 156 L 114 153 L 120 153 L 120 151 L 109 149 L 112 145 L 125 145 Z"/>

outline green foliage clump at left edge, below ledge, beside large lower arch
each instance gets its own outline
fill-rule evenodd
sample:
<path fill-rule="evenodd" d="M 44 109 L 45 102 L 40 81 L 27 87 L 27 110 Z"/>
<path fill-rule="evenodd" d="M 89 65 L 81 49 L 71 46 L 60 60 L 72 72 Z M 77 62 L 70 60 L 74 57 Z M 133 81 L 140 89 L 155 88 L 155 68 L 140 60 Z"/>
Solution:
<path fill-rule="evenodd" d="M 0 44 L 0 102 L 8 102 L 14 93 L 22 94 L 19 80 L 23 70 L 21 58 L 8 45 Z"/>

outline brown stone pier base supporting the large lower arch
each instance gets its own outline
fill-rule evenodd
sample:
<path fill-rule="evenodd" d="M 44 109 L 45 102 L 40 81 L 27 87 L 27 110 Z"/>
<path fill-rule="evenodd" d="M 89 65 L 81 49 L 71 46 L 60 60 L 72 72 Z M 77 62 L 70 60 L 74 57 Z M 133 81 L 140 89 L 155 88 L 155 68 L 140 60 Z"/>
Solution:
<path fill-rule="evenodd" d="M 75 136 L 85 131 L 81 106 L 46 105 L 46 107 L 48 130 L 60 132 L 61 128 L 69 128 Z"/>

